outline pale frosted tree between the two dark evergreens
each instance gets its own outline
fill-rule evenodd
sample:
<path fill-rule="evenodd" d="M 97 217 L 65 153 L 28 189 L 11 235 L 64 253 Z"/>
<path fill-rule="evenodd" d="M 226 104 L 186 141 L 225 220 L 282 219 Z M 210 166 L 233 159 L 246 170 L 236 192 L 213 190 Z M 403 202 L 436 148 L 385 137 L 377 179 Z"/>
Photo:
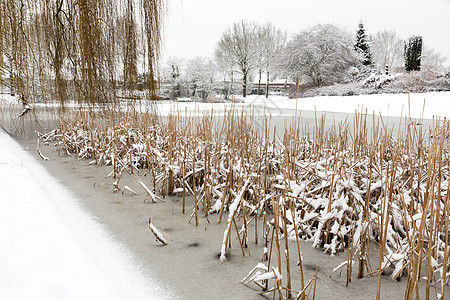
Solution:
<path fill-rule="evenodd" d="M 371 36 L 372 60 L 378 72 L 384 73 L 386 66 L 389 70 L 403 68 L 403 40 L 394 30 L 378 31 Z"/>

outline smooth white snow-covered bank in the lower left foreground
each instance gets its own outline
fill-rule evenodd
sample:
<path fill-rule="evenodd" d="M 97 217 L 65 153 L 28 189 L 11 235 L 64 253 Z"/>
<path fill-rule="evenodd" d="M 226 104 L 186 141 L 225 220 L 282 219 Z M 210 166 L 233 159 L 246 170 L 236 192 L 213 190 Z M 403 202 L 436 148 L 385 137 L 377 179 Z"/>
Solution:
<path fill-rule="evenodd" d="M 173 298 L 0 130 L 0 299 Z"/>

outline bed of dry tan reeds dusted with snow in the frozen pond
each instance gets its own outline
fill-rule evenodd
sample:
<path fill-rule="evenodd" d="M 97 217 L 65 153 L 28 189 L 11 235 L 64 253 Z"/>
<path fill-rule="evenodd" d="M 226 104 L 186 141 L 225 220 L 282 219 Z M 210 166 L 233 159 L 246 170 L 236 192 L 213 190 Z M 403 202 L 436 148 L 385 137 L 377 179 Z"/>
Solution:
<path fill-rule="evenodd" d="M 425 129 L 405 118 L 403 129 L 393 132 L 381 117 L 356 114 L 353 123 L 328 131 L 318 119 L 305 132 L 294 119 L 278 134 L 270 119 L 263 118 L 262 129 L 252 125 L 251 112 L 232 107 L 213 115 L 175 112 L 162 119 L 153 111 L 111 110 L 102 117 L 78 111 L 61 121 L 55 137 L 59 151 L 111 166 L 115 191 L 127 172 L 145 190 L 144 201 L 178 195 L 190 222 L 226 222 L 221 262 L 232 240 L 244 256 L 251 255 L 252 239 L 259 243 L 262 262 L 242 283 L 262 293 L 314 298 L 317 270 L 305 278 L 302 267 L 307 257 L 300 241 L 306 240 L 331 255 L 346 253 L 330 276 L 344 270 L 347 284 L 354 276 L 378 276 L 377 299 L 383 274 L 407 278 L 405 299 L 418 297 L 423 286 L 427 298 L 445 298 L 446 120 Z M 298 261 L 301 278 L 291 278 L 290 260 Z"/>

